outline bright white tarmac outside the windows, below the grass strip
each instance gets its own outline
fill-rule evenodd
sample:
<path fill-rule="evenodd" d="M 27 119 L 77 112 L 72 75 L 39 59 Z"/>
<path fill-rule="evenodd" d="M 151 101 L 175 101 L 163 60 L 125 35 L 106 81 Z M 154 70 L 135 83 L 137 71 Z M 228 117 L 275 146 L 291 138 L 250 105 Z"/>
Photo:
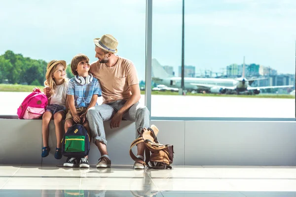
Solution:
<path fill-rule="evenodd" d="M 28 92 L 0 92 L 0 115 L 16 115 Z M 140 102 L 145 103 L 145 95 Z M 102 103 L 102 99 L 98 99 Z M 295 118 L 295 99 L 151 96 L 154 117 Z"/>

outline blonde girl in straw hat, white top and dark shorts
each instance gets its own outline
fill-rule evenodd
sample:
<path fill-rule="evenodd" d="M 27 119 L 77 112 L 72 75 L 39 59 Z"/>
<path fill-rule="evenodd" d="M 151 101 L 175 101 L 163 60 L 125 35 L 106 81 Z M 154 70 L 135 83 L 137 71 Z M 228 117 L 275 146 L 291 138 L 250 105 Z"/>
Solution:
<path fill-rule="evenodd" d="M 48 147 L 49 122 L 53 118 L 57 147 L 54 158 L 59 160 L 62 158 L 61 140 L 63 137 L 62 120 L 65 119 L 66 110 L 68 111 L 67 88 L 68 79 L 66 75 L 66 62 L 64 60 L 52 60 L 48 63 L 46 68 L 46 81 L 44 85 L 50 89 L 47 96 L 48 105 L 42 115 L 42 141 L 43 148 L 41 157 L 47 157 L 50 151 Z"/>

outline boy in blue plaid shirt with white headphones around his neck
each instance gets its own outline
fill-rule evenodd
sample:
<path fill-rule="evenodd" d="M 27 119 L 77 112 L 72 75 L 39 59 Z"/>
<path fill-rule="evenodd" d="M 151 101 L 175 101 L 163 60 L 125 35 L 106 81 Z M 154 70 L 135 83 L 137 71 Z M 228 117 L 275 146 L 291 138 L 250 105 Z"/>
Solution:
<path fill-rule="evenodd" d="M 91 131 L 86 120 L 90 107 L 98 105 L 97 99 L 102 96 L 101 86 L 95 77 L 88 73 L 89 59 L 84 54 L 77 54 L 71 61 L 71 71 L 74 77 L 68 83 L 68 104 L 70 110 L 66 115 L 65 131 L 74 124 L 82 124 L 91 138 Z M 80 159 L 79 167 L 89 168 L 88 156 Z M 78 166 L 78 158 L 67 158 L 65 167 Z"/>

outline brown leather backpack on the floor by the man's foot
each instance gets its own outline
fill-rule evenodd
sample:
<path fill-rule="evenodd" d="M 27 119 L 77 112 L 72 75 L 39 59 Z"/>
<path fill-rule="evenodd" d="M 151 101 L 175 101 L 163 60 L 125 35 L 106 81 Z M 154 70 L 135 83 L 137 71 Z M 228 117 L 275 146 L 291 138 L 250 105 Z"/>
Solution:
<path fill-rule="evenodd" d="M 174 149 L 173 145 L 163 145 L 160 144 L 157 140 L 157 133 L 158 129 L 155 125 L 151 125 L 150 128 L 138 128 L 138 133 L 140 134 L 140 137 L 134 140 L 130 147 L 130 156 L 131 158 L 140 163 L 144 164 L 149 168 L 153 169 L 172 169 L 172 166 L 170 164 L 173 163 L 174 158 Z M 133 151 L 132 147 L 135 145 L 144 142 L 146 149 L 145 149 L 145 156 L 146 160 L 145 162 L 137 158 Z"/>

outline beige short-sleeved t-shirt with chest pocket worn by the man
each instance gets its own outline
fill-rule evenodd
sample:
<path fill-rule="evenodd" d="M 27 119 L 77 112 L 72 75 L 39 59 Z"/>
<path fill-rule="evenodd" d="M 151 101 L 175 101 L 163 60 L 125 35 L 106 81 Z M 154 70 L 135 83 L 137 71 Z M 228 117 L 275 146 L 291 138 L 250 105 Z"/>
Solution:
<path fill-rule="evenodd" d="M 90 72 L 100 80 L 103 103 L 115 100 L 127 100 L 132 95 L 129 86 L 139 84 L 134 64 L 119 56 L 117 63 L 108 67 L 96 61 L 91 64 Z"/>

